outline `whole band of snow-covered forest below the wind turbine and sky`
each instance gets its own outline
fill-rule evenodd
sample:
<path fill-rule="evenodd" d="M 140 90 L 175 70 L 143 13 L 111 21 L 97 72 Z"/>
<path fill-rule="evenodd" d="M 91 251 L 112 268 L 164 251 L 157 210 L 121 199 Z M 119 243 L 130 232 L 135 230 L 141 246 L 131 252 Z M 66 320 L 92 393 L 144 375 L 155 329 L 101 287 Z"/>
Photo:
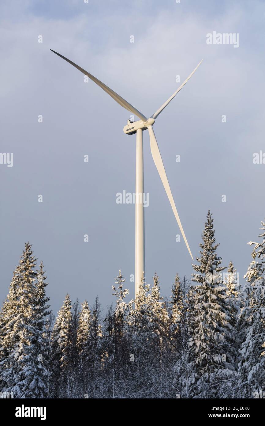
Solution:
<path fill-rule="evenodd" d="M 265 222 L 239 283 L 222 266 L 210 210 L 189 280 L 128 300 L 121 271 L 102 315 L 67 294 L 57 317 L 26 243 L 0 311 L 0 391 L 14 398 L 258 398 L 265 395 Z M 224 272 L 226 270 L 226 272 Z M 126 297 L 127 296 L 127 297 Z"/>

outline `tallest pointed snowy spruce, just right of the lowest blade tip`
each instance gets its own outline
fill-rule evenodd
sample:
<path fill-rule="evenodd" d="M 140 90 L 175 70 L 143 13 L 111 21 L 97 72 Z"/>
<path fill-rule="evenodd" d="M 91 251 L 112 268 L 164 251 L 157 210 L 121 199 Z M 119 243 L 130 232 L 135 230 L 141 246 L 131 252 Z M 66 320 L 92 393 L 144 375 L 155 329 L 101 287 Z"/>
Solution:
<path fill-rule="evenodd" d="M 215 244 L 214 233 L 212 215 L 208 210 L 202 232 L 203 243 L 199 244 L 201 256 L 196 258 L 199 265 L 193 265 L 196 273 L 192 274 L 192 280 L 199 285 L 192 292 L 194 317 L 189 342 L 205 395 L 208 395 L 209 388 L 206 388 L 211 374 L 226 368 L 225 355 L 229 345 L 226 335 L 231 328 L 226 289 L 220 274 L 225 268 L 216 253 L 219 244 Z M 214 391 L 214 386 L 211 386 L 211 391 Z"/>

